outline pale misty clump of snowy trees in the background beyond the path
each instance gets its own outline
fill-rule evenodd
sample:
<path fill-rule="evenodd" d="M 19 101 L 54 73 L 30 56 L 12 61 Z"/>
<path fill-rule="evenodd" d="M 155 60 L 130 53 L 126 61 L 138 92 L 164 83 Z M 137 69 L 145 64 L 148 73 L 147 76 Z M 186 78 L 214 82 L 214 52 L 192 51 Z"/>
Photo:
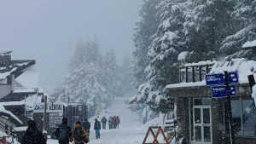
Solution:
<path fill-rule="evenodd" d="M 90 111 L 96 107 L 103 111 L 114 97 L 123 96 L 123 89 L 129 87 L 125 85 L 129 81 L 124 79 L 127 74 L 121 72 L 124 67 L 118 66 L 113 49 L 102 55 L 96 39 L 79 41 L 64 84 L 55 89 L 52 97 L 55 101 L 86 102 Z"/>

